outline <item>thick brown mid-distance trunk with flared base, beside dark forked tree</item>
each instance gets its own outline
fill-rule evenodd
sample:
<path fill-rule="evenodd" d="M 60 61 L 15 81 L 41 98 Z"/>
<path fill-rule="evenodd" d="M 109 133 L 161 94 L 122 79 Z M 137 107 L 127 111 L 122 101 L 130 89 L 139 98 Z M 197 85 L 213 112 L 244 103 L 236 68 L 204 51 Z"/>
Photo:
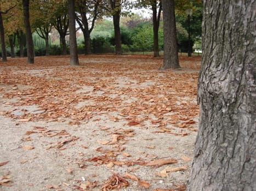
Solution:
<path fill-rule="evenodd" d="M 160 69 L 180 68 L 178 58 L 177 32 L 175 22 L 174 0 L 162 0 L 163 7 L 163 67 Z"/>

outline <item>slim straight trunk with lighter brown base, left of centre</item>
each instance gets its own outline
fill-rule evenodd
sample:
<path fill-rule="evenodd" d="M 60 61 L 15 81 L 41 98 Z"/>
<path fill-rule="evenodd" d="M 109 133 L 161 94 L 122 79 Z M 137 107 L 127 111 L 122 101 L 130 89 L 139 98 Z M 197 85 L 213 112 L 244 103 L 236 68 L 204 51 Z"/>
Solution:
<path fill-rule="evenodd" d="M 70 65 L 79 65 L 76 44 L 75 0 L 68 0 L 70 32 Z"/>

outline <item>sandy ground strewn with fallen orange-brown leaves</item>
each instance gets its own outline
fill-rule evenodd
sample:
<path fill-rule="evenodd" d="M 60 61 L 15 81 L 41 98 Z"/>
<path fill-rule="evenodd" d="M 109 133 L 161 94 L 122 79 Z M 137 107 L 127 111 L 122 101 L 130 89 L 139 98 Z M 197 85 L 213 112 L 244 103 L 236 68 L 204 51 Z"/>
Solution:
<path fill-rule="evenodd" d="M 0 190 L 185 190 L 201 58 L 0 63 Z"/>

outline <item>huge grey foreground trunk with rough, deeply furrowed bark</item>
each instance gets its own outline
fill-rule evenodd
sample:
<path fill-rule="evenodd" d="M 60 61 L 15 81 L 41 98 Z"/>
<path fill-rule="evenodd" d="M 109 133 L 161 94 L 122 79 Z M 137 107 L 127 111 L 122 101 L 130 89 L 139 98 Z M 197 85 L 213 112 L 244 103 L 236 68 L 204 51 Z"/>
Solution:
<path fill-rule="evenodd" d="M 256 188 L 256 1 L 203 1 L 199 131 L 189 190 Z"/>

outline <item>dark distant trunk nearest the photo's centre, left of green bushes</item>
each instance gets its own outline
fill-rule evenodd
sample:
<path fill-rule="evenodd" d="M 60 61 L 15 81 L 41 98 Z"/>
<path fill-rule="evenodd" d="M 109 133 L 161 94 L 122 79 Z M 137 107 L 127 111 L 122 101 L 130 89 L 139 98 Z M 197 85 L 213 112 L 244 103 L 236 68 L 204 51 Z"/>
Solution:
<path fill-rule="evenodd" d="M 121 41 L 121 32 L 120 32 L 120 11 L 116 11 L 113 14 L 113 25 L 115 32 L 115 45 L 116 45 L 116 55 L 122 55 L 122 41 Z"/>

